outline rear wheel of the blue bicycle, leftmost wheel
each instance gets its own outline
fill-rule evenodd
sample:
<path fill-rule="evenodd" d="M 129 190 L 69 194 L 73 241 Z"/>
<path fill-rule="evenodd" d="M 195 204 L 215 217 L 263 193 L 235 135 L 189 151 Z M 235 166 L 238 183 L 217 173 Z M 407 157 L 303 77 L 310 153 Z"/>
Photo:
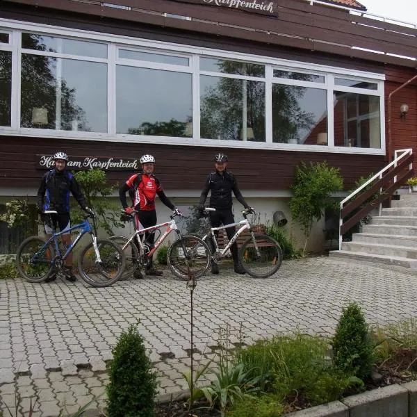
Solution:
<path fill-rule="evenodd" d="M 17 249 L 16 268 L 21 277 L 28 282 L 42 282 L 54 268 L 54 247 L 46 245 L 46 240 L 31 236 Z"/>

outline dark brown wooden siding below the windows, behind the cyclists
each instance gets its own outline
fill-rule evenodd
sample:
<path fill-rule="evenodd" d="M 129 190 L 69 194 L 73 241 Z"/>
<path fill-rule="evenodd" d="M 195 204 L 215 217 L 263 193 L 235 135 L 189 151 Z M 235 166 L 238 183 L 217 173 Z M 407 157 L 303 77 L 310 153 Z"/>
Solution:
<path fill-rule="evenodd" d="M 340 167 L 345 188 L 350 189 L 359 177 L 379 171 L 384 156 L 330 154 L 327 152 L 291 152 L 279 150 L 227 149 L 180 145 L 149 145 L 90 140 L 16 138 L 0 136 L 0 187 L 38 187 L 42 170 L 37 169 L 38 154 L 63 150 L 71 156 L 136 158 L 152 154 L 156 158 L 156 175 L 170 190 L 199 190 L 214 169 L 213 156 L 221 151 L 229 156 L 229 168 L 242 190 L 288 190 L 294 168 L 301 161 L 327 161 Z M 121 183 L 129 172 L 108 172 L 108 179 Z"/>

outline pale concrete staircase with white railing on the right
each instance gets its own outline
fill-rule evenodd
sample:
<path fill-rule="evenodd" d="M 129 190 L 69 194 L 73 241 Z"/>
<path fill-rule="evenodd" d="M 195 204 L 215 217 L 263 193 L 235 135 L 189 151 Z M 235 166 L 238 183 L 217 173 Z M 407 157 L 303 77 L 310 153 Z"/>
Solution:
<path fill-rule="evenodd" d="M 400 194 L 391 206 L 329 256 L 417 268 L 417 193 Z"/>

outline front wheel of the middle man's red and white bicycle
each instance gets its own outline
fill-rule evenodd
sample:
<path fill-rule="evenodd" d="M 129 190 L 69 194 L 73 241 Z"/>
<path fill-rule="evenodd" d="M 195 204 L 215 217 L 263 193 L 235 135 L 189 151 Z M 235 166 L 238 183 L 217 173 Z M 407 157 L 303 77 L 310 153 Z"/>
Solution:
<path fill-rule="evenodd" d="M 197 236 L 182 236 L 168 248 L 167 264 L 177 279 L 188 281 L 191 277 L 201 277 L 210 261 L 208 245 Z"/>

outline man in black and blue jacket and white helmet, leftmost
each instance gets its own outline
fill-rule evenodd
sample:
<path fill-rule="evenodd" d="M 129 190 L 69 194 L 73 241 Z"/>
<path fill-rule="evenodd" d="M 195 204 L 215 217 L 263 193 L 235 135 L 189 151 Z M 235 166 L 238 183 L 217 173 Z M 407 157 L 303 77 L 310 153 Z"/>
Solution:
<path fill-rule="evenodd" d="M 54 154 L 54 169 L 48 171 L 42 177 L 38 190 L 38 209 L 44 221 L 45 233 L 51 236 L 54 229 L 58 226 L 60 231 L 70 229 L 70 193 L 74 195 L 84 211 L 90 213 L 87 207 L 85 197 L 81 193 L 79 183 L 76 181 L 71 172 L 65 170 L 68 156 L 65 152 L 56 152 Z M 44 211 L 53 210 L 57 214 L 44 215 Z M 71 235 L 66 233 L 61 235 L 65 246 L 71 245 Z M 65 259 L 64 265 L 65 279 L 75 281 L 76 277 L 72 272 L 72 253 Z M 56 275 L 51 275 L 45 282 L 54 281 Z"/>

